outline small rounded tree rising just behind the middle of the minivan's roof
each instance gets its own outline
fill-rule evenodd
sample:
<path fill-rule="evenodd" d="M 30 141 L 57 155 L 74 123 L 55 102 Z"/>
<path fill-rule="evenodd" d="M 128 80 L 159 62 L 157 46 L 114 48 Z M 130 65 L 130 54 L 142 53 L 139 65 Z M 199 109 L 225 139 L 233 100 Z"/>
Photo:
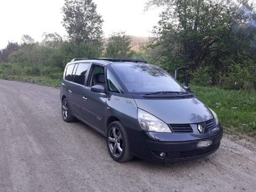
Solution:
<path fill-rule="evenodd" d="M 129 58 L 132 56 L 131 43 L 132 38 L 125 35 L 124 32 L 113 33 L 107 40 L 105 56 L 112 58 Z"/>

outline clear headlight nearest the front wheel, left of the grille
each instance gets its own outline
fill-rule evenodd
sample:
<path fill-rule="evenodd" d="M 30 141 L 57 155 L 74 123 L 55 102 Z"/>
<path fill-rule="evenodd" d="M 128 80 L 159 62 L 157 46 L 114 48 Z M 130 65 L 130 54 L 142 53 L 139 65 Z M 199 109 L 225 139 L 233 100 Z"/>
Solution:
<path fill-rule="evenodd" d="M 144 110 L 138 109 L 138 120 L 142 129 L 146 131 L 171 133 L 171 129 L 165 122 L 162 122 Z"/>

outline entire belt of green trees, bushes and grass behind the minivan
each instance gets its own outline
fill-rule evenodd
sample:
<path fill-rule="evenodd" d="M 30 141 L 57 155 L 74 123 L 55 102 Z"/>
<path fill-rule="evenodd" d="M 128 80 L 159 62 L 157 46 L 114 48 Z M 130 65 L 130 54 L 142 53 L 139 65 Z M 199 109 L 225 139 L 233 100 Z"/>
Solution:
<path fill-rule="evenodd" d="M 53 32 L 41 42 L 26 34 L 9 42 L 0 50 L 0 78 L 58 87 L 65 64 L 78 57 L 139 58 L 171 74 L 185 66 L 191 90 L 215 110 L 225 132 L 256 138 L 256 14 L 249 2 L 149 0 L 147 9 L 163 12 L 152 37 L 139 41 L 122 31 L 104 38 L 92 0 L 65 0 L 68 38 Z"/>

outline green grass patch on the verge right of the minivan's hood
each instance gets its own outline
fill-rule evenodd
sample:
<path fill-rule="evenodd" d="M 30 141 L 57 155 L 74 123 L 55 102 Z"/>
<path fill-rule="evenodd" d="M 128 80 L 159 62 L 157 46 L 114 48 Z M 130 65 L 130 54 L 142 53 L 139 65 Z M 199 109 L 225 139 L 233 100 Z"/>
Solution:
<path fill-rule="evenodd" d="M 191 86 L 218 119 L 228 134 L 245 134 L 256 139 L 256 91 L 223 90 L 217 87 Z"/>

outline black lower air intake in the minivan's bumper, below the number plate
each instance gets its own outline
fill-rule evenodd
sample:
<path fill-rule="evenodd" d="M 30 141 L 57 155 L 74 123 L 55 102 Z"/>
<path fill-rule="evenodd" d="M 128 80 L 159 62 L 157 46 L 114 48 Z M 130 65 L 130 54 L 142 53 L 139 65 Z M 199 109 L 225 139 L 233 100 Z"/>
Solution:
<path fill-rule="evenodd" d="M 212 146 L 208 146 L 206 148 L 194 149 L 190 151 L 180 151 L 180 152 L 169 152 L 167 154 L 166 159 L 186 159 L 193 156 L 201 156 L 203 154 L 208 154 L 210 151 L 215 151 L 220 146 L 220 143 L 213 144 Z"/>

